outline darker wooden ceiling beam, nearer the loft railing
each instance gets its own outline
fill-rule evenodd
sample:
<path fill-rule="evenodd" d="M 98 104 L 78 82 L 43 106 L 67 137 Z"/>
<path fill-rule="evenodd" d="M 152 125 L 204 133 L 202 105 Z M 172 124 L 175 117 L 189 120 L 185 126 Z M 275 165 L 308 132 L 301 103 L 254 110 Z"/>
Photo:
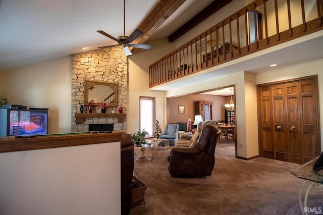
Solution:
<path fill-rule="evenodd" d="M 232 0 L 214 0 L 214 2 L 209 4 L 206 8 L 204 8 L 196 16 L 194 16 L 187 23 L 185 23 L 179 29 L 177 29 L 174 33 L 172 33 L 168 37 L 168 41 L 174 42 L 176 39 L 180 38 L 182 35 L 187 33 L 189 30 L 194 28 L 196 25 L 198 25 L 199 23 L 204 21 L 206 18 L 208 18 L 212 14 L 219 11 L 224 6 L 228 5 L 230 2 L 232 2 Z"/>

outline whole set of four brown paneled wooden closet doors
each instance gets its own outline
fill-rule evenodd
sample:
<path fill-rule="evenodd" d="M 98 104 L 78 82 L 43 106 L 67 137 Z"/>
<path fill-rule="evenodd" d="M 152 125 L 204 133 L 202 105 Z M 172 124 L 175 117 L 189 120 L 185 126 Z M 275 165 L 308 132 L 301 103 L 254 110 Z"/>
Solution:
<path fill-rule="evenodd" d="M 317 76 L 258 86 L 260 155 L 304 164 L 321 153 Z"/>

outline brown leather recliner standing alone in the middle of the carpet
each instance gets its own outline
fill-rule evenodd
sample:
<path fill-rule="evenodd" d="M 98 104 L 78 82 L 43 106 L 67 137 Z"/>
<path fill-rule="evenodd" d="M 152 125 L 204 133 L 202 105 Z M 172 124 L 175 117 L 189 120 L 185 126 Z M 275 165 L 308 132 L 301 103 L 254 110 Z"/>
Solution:
<path fill-rule="evenodd" d="M 217 141 L 221 130 L 217 126 L 203 127 L 198 143 L 190 147 L 173 147 L 168 157 L 172 177 L 199 178 L 210 176 L 214 167 Z"/>

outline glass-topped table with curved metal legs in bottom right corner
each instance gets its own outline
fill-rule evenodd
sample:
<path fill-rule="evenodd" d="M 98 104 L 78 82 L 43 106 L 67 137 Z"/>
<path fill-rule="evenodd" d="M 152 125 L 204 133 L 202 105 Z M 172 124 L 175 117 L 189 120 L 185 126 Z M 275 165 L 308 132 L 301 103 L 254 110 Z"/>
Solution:
<path fill-rule="evenodd" d="M 307 210 L 307 198 L 310 190 L 315 187 L 323 191 L 323 169 L 316 172 L 313 170 L 313 165 L 315 164 L 318 157 L 310 160 L 309 162 L 295 168 L 290 173 L 297 178 L 304 179 L 302 186 L 299 190 L 299 206 L 301 208 L 302 214 L 308 214 Z M 310 181 L 310 185 L 307 188 L 306 194 L 304 196 L 304 200 L 302 197 L 303 190 L 305 188 L 306 182 Z M 303 204 L 304 202 L 304 204 Z"/>

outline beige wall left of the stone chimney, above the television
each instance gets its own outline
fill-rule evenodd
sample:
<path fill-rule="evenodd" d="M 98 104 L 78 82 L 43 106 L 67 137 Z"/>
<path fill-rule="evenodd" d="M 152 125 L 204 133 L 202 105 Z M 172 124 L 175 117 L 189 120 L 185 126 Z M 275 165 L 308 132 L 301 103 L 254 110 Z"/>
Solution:
<path fill-rule="evenodd" d="M 48 108 L 48 133 L 71 131 L 71 57 L 0 72 L 0 94 L 11 104 Z"/>

